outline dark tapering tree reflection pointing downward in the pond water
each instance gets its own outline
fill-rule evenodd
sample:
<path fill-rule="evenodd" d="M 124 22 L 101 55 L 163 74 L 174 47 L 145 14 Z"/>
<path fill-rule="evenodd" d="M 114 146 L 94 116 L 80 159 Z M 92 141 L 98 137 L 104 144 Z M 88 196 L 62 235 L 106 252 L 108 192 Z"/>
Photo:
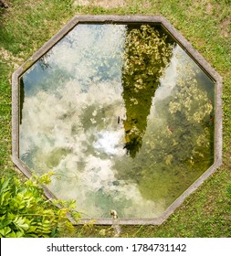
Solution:
<path fill-rule="evenodd" d="M 150 25 L 128 27 L 123 55 L 122 85 L 127 119 L 125 145 L 132 158 L 142 146 L 152 97 L 173 56 L 173 41 Z"/>

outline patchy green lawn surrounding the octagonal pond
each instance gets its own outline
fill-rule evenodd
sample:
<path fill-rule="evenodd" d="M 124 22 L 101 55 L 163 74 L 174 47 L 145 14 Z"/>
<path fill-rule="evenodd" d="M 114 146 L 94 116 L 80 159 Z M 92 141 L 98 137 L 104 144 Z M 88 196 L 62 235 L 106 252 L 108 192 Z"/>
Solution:
<path fill-rule="evenodd" d="M 78 5 L 80 2 L 82 5 Z M 223 165 L 163 225 L 122 226 L 121 236 L 231 237 L 231 201 L 226 197 L 231 182 L 231 1 L 5 0 L 5 3 L 9 7 L 0 9 L 0 176 L 23 179 L 11 161 L 11 75 L 19 65 L 72 16 L 163 15 L 223 77 Z M 72 235 L 94 237 L 104 233 L 110 236 L 110 227 L 77 227 Z"/>

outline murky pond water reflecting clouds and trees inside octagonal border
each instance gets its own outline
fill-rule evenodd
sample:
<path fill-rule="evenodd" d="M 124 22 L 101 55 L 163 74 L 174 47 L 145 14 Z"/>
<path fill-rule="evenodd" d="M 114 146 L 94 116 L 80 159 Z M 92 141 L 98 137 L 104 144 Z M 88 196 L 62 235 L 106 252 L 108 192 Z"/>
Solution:
<path fill-rule="evenodd" d="M 214 82 L 161 27 L 79 25 L 20 87 L 20 159 L 83 217 L 158 217 L 213 164 Z"/>

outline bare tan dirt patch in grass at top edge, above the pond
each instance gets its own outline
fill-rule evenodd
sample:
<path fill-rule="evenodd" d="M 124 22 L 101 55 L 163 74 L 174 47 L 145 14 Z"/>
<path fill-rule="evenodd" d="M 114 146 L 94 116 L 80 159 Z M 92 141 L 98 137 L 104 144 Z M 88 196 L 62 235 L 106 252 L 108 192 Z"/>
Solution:
<path fill-rule="evenodd" d="M 89 1 L 89 0 L 76 0 L 73 3 L 73 6 L 99 6 L 99 7 L 103 7 L 106 9 L 110 9 L 110 8 L 116 8 L 116 7 L 121 7 L 121 6 L 125 6 L 127 5 L 126 3 L 127 1 L 125 0 L 113 0 L 113 1 L 109 1 L 109 0 L 93 0 L 93 1 Z"/>

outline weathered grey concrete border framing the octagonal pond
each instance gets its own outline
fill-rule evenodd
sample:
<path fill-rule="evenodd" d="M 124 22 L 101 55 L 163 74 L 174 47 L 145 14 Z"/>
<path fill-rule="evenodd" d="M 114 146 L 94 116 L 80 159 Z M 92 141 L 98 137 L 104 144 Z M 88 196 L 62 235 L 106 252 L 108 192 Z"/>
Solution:
<path fill-rule="evenodd" d="M 19 143 L 19 78 L 29 69 L 40 57 L 52 48 L 58 41 L 65 37 L 68 32 L 82 23 L 102 23 L 102 24 L 127 24 L 127 23 L 155 23 L 162 25 L 165 30 L 174 38 L 174 40 L 184 49 L 192 59 L 204 69 L 205 73 L 215 81 L 215 162 L 205 173 L 200 176 L 192 185 L 178 197 L 173 204 L 167 208 L 163 215 L 157 219 L 120 219 L 120 224 L 124 225 L 160 225 L 167 219 L 173 211 L 178 208 L 183 202 L 185 197 L 188 197 L 199 187 L 208 176 L 211 176 L 215 169 L 222 165 L 222 78 L 211 67 L 211 65 L 196 51 L 192 45 L 168 22 L 163 16 L 74 16 L 66 26 L 58 31 L 47 43 L 16 71 L 12 76 L 12 160 L 17 168 L 19 168 L 27 177 L 31 176 L 30 170 L 19 159 L 18 143 Z M 56 198 L 48 189 L 44 187 L 46 196 L 48 198 Z M 89 223 L 92 219 L 81 219 L 80 222 L 74 224 Z M 96 224 L 111 225 L 112 220 L 107 219 L 94 219 Z"/>

